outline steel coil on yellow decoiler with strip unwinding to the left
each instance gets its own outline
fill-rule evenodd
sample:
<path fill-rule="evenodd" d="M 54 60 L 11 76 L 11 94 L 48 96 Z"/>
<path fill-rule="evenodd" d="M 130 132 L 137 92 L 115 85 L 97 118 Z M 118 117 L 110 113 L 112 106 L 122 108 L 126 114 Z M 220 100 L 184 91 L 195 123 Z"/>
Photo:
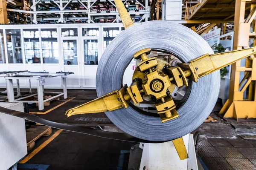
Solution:
<path fill-rule="evenodd" d="M 256 54 L 256 47 L 211 55 L 209 45 L 185 26 L 168 21 L 134 25 L 122 1 L 115 3 L 126 30 L 109 44 L 99 63 L 96 86 L 101 97 L 69 109 L 66 115 L 106 112 L 117 127 L 136 138 L 59 124 L 3 108 L 0 112 L 105 138 L 145 143 L 172 141 L 179 158 L 186 159 L 188 152 L 182 137 L 195 130 L 212 111 L 220 86 L 220 74 L 216 71 Z M 151 51 L 170 53 L 181 62 L 170 65 L 159 58 L 148 58 Z M 133 58 L 141 62 L 134 71 L 132 84 L 122 86 L 125 67 Z M 187 86 L 186 94 L 175 103 L 172 92 L 182 86 Z M 145 98 L 154 102 L 156 113 L 134 106 Z"/>

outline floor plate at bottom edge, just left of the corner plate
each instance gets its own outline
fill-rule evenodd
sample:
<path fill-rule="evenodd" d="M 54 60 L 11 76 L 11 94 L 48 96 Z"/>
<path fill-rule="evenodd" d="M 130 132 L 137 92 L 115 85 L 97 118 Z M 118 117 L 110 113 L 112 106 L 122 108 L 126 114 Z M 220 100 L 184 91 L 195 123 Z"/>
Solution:
<path fill-rule="evenodd" d="M 233 170 L 224 158 L 202 158 L 209 170 Z"/>

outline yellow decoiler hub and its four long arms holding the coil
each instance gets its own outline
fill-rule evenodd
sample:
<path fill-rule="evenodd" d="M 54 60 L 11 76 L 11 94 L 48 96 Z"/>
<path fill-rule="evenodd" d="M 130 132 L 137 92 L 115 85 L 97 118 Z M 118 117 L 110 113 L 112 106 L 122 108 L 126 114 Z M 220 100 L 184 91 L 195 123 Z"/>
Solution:
<path fill-rule="evenodd" d="M 130 30 L 129 27 L 134 27 L 134 23 L 129 17 L 129 14 L 127 13 L 122 2 L 119 0 L 115 0 L 115 3 L 125 29 Z M 143 25 L 141 24 L 141 26 Z M 137 26 L 137 28 L 138 27 L 139 26 Z M 123 34 L 125 34 L 125 32 Z M 115 49 L 113 49 L 113 51 L 114 50 Z M 118 49 L 116 49 L 116 51 L 117 50 Z M 81 106 L 75 107 L 73 109 L 69 109 L 66 112 L 66 115 L 71 116 L 71 115 L 84 114 L 84 113 L 110 112 L 110 113 L 106 113 L 108 117 L 110 117 L 109 115 L 112 114 L 113 110 L 120 109 L 120 108 L 128 108 L 130 101 L 132 101 L 133 104 L 137 105 L 138 103 L 143 102 L 145 98 L 148 98 L 148 96 L 150 96 L 151 100 L 155 102 L 155 108 L 157 110 L 157 114 L 160 117 L 160 119 L 154 119 L 154 121 L 161 121 L 163 124 L 169 123 L 169 126 L 172 126 L 171 122 L 175 120 L 177 122 L 179 121 L 179 118 L 180 118 L 180 114 L 176 109 L 176 104 L 171 95 L 176 86 L 177 87 L 189 86 L 189 82 L 191 84 L 192 81 L 197 83 L 198 81 L 200 81 L 198 80 L 199 78 L 203 78 L 204 76 L 207 76 L 227 65 L 235 63 L 236 61 L 239 61 L 242 58 L 246 58 L 256 53 L 255 52 L 256 48 L 253 47 L 249 49 L 242 49 L 242 50 L 219 53 L 214 55 L 204 54 L 199 56 L 198 58 L 190 60 L 189 62 L 177 63 L 176 66 L 171 66 L 166 61 L 163 61 L 157 58 L 148 58 L 147 55 L 151 53 L 151 50 L 156 50 L 156 49 L 143 48 L 133 54 L 133 58 L 137 60 L 141 60 L 142 62 L 137 65 L 137 68 L 135 69 L 132 77 L 133 82 L 130 86 L 127 86 L 125 84 L 124 86 L 122 86 L 122 88 L 116 89 L 113 92 L 102 95 L 102 97 L 100 98 L 97 98 L 86 104 L 82 104 Z M 158 49 L 156 51 L 161 52 L 161 50 L 158 50 Z M 163 50 L 162 52 L 166 52 L 166 51 Z M 168 53 L 168 51 L 166 53 Z M 104 58 L 105 56 L 103 55 L 102 58 Z M 122 58 L 122 56 L 120 56 L 120 58 Z M 97 80 L 98 80 L 99 74 L 103 75 L 105 73 L 98 71 Z M 219 82 L 217 78 L 218 76 L 216 77 L 215 81 Z M 215 86 L 218 86 L 218 85 L 219 85 L 218 83 L 215 84 Z M 205 88 L 205 86 L 207 86 L 207 84 L 204 84 L 204 86 L 200 87 L 202 91 L 203 91 L 203 88 Z M 98 92 L 98 95 L 99 95 L 99 92 Z M 215 95 L 218 95 L 218 94 L 215 94 Z M 198 95 L 198 98 L 201 98 L 201 95 Z M 209 100 L 208 102 L 214 103 L 215 101 Z M 211 111 L 212 110 L 208 110 L 208 115 Z M 115 114 L 113 113 L 113 117 L 116 116 L 117 113 L 118 112 L 116 112 Z M 122 111 L 120 111 L 119 113 L 122 114 Z M 199 115 L 199 116 L 202 117 L 204 115 Z M 114 119 L 113 117 L 111 118 L 111 121 L 116 123 L 116 121 L 113 120 Z M 123 120 L 123 122 L 125 122 L 125 120 Z M 136 123 L 136 120 L 134 121 L 134 123 Z M 139 122 L 137 123 L 139 124 Z M 179 123 L 184 124 L 184 120 L 180 118 Z M 195 129 L 201 123 L 202 122 L 197 122 L 197 125 L 193 128 Z M 117 123 L 116 126 L 118 126 L 120 129 L 124 130 L 125 132 L 137 138 L 142 138 L 142 139 L 151 140 L 151 141 L 163 140 L 163 138 L 161 138 L 161 135 L 156 136 L 157 135 L 156 133 L 153 134 L 154 137 L 148 138 L 143 135 L 138 135 L 136 132 L 131 133 L 131 131 L 125 129 L 122 124 Z M 144 124 L 144 126 L 147 126 L 147 124 Z M 140 126 L 137 126 L 136 128 L 137 129 L 134 129 L 133 131 L 141 130 Z M 150 131 L 150 128 L 148 128 L 148 131 Z M 161 128 L 161 127 L 155 126 L 155 128 Z M 180 126 L 179 128 L 177 128 L 176 131 L 184 131 L 182 129 L 183 128 L 182 126 Z M 190 129 L 190 132 L 194 129 Z M 143 133 L 145 133 L 145 130 Z M 169 133 L 171 133 L 171 131 Z M 182 136 L 181 134 L 179 137 Z M 182 155 L 182 150 L 186 150 L 186 148 L 184 148 L 184 143 L 182 138 L 177 139 L 177 136 L 170 135 L 169 138 L 165 138 L 164 140 L 173 140 L 175 147 L 177 146 L 176 149 L 178 151 L 180 159 L 184 159 L 187 157 L 186 152 L 183 152 L 183 155 Z M 180 153 L 179 153 L 179 150 L 180 150 Z"/>

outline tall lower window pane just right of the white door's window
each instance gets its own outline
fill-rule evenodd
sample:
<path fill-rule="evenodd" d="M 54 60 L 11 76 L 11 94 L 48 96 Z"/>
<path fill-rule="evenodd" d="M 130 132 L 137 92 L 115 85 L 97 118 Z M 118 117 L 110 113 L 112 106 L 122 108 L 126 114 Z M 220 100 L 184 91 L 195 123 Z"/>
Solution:
<path fill-rule="evenodd" d="M 84 64 L 98 64 L 98 40 L 84 40 Z"/>

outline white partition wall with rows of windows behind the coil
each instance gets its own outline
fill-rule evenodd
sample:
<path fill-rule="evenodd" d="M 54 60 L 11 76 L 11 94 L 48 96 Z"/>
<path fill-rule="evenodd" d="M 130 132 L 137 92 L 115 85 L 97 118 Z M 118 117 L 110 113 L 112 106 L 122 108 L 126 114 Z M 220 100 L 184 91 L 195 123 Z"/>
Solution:
<path fill-rule="evenodd" d="M 95 89 L 104 49 L 122 30 L 122 23 L 2 25 L 0 72 L 74 72 L 67 78 L 69 89 Z M 125 71 L 124 83 L 132 81 L 134 65 Z M 0 88 L 5 87 L 0 78 Z M 29 81 L 20 81 L 20 87 L 29 88 Z M 47 80 L 45 88 L 61 88 L 61 79 Z"/>

